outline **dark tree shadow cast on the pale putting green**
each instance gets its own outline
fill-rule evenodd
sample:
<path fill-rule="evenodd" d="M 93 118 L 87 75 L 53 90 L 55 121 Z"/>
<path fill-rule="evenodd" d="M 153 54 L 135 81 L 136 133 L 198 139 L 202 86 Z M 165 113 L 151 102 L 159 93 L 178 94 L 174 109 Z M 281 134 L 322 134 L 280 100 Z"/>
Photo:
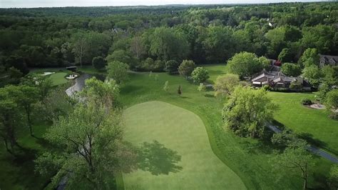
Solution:
<path fill-rule="evenodd" d="M 165 148 L 158 141 L 143 142 L 138 149 L 138 168 L 156 176 L 181 171 L 182 166 L 177 165 L 180 159 L 177 151 Z"/>

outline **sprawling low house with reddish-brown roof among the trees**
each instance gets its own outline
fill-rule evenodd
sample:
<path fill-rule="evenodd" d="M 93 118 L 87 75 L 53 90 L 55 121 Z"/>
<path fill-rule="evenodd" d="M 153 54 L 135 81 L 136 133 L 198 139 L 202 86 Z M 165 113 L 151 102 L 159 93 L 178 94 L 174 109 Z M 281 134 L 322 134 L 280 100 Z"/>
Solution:
<path fill-rule="evenodd" d="M 293 77 L 293 76 L 285 76 L 285 74 L 282 74 L 281 71 L 261 71 L 258 74 L 255 74 L 254 77 L 251 79 L 251 84 L 253 86 L 271 86 L 272 88 L 278 89 L 278 88 L 284 88 L 284 89 L 290 89 L 290 84 L 292 82 L 298 82 L 302 85 L 302 90 L 304 91 L 310 91 L 311 86 L 309 83 L 304 80 L 302 77 Z"/>

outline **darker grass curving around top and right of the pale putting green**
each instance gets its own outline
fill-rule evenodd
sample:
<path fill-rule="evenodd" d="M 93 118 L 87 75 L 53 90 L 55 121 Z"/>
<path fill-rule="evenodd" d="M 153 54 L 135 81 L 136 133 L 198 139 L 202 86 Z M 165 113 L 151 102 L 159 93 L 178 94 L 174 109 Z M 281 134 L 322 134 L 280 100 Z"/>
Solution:
<path fill-rule="evenodd" d="M 158 81 L 148 73 L 130 74 L 130 81 L 121 86 L 121 101 L 127 106 L 145 101 L 160 100 L 180 106 L 200 116 L 205 124 L 212 151 L 235 171 L 247 189 L 301 189 L 302 180 L 291 174 L 285 174 L 282 181 L 277 181 L 277 174 L 272 173 L 269 160 L 280 151 L 256 139 L 240 138 L 222 126 L 221 110 L 224 101 L 213 97 L 213 92 L 199 92 L 198 86 L 190 84 L 180 76 L 158 74 Z M 165 81 L 169 81 L 169 91 L 163 91 Z M 183 94 L 178 96 L 178 85 Z M 316 158 L 314 168 L 316 177 L 309 179 L 312 188 L 325 188 L 324 179 L 331 163 Z"/>

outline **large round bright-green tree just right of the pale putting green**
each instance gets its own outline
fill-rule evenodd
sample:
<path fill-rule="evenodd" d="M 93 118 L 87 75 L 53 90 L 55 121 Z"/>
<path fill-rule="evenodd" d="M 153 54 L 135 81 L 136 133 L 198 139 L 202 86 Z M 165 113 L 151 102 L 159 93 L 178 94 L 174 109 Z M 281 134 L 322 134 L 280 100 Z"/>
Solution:
<path fill-rule="evenodd" d="M 222 118 L 235 134 L 262 138 L 275 109 L 264 89 L 237 86 L 223 107 Z"/>

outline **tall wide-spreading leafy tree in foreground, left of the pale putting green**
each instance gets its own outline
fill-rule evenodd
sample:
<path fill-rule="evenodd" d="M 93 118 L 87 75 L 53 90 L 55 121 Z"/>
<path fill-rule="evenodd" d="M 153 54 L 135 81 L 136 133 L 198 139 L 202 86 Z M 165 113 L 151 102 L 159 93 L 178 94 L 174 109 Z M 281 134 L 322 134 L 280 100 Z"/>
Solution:
<path fill-rule="evenodd" d="M 48 150 L 36 159 L 36 169 L 46 174 L 57 169 L 53 184 L 63 176 L 67 186 L 75 188 L 79 182 L 92 189 L 110 189 L 111 178 L 119 171 L 130 171 L 135 154 L 125 151 L 122 139 L 121 116 L 103 106 L 78 104 L 67 117 L 61 117 L 47 130 L 44 138 L 56 150 Z"/>

